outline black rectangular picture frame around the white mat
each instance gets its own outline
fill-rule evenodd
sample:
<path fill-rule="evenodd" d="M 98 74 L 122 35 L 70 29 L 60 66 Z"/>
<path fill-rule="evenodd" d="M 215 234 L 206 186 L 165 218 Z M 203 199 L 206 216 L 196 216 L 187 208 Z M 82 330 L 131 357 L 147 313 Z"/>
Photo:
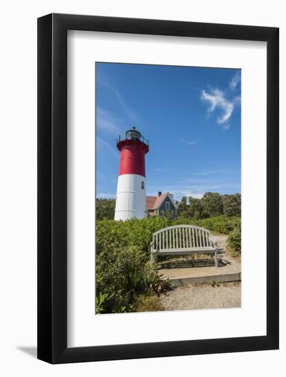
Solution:
<path fill-rule="evenodd" d="M 267 335 L 67 348 L 67 30 L 267 42 Z M 38 358 L 75 363 L 278 349 L 279 29 L 48 14 L 38 19 Z"/>

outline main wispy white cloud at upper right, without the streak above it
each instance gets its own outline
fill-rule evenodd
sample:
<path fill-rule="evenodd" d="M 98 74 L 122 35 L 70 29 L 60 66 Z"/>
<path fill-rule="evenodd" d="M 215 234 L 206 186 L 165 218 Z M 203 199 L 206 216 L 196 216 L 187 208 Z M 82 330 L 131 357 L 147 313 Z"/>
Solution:
<path fill-rule="evenodd" d="M 213 112 L 215 109 L 221 112 L 219 117 L 217 117 L 217 124 L 224 125 L 224 128 L 227 130 L 230 127 L 227 121 L 233 114 L 235 101 L 226 99 L 224 92 L 219 89 L 211 89 L 209 92 L 202 90 L 201 99 L 202 101 L 208 102 L 208 112 Z"/>

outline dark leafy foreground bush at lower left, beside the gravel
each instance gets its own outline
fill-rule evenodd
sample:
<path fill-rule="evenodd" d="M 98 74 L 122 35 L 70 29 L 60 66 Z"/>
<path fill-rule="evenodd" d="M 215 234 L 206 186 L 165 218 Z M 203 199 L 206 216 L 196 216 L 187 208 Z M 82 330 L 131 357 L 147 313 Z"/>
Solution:
<path fill-rule="evenodd" d="M 137 296 L 160 294 L 167 287 L 138 247 L 111 245 L 96 258 L 96 313 L 136 311 Z"/>

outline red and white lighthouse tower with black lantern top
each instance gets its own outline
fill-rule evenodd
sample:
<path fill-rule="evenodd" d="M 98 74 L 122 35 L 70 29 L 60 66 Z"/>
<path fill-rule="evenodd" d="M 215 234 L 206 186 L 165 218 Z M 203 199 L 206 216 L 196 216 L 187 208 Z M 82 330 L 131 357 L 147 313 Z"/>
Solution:
<path fill-rule="evenodd" d="M 119 176 L 115 220 L 143 219 L 146 210 L 145 154 L 148 141 L 135 130 L 126 132 L 126 137 L 117 139 L 120 151 Z"/>

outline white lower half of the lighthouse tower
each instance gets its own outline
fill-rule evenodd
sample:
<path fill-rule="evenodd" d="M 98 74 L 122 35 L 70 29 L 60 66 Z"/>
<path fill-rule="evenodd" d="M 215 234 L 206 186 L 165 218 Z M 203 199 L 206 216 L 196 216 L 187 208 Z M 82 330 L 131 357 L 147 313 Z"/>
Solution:
<path fill-rule="evenodd" d="M 119 175 L 115 220 L 143 219 L 146 216 L 145 210 L 145 177 L 137 174 Z"/>

